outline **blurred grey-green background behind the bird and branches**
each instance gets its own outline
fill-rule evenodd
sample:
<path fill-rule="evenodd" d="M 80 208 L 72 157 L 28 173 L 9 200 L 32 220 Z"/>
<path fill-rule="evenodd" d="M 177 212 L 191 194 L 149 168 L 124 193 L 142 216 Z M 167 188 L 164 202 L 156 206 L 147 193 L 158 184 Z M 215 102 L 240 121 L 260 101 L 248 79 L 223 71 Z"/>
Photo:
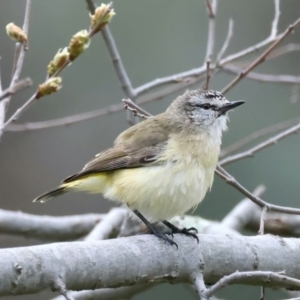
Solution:
<path fill-rule="evenodd" d="M 99 3 L 100 4 L 100 3 Z M 279 32 L 300 15 L 297 0 L 281 2 Z M 3 88 L 10 82 L 14 43 L 5 26 L 22 26 L 25 1 L 0 1 L 0 55 Z M 205 1 L 115 0 L 116 16 L 110 29 L 132 84 L 137 87 L 155 78 L 175 74 L 202 65 L 207 40 L 208 18 Z M 226 54 L 231 54 L 265 39 L 274 16 L 272 0 L 219 1 L 217 11 L 217 53 L 225 40 L 229 18 L 234 20 L 234 35 Z M 13 97 L 8 116 L 24 103 L 46 76 L 47 65 L 59 48 L 68 45 L 73 34 L 88 29 L 89 16 L 84 0 L 33 1 L 29 24 L 29 51 L 21 78 L 31 77 L 33 86 Z M 299 43 L 300 31 L 284 42 Z M 226 56 L 225 54 L 225 56 Z M 252 56 L 253 58 L 253 56 Z M 266 62 L 256 71 L 272 74 L 300 73 L 299 52 Z M 114 71 L 101 34 L 92 39 L 87 51 L 63 73 L 63 87 L 32 105 L 18 122 L 60 118 L 120 103 L 125 97 Z M 210 88 L 221 90 L 234 75 L 220 73 Z M 199 83 L 191 88 L 199 88 Z M 261 83 L 244 79 L 226 97 L 245 100 L 246 104 L 231 113 L 229 131 L 223 145 L 228 146 L 263 127 L 299 116 L 300 103 L 292 95 L 299 87 Z M 183 90 L 184 91 L 184 90 Z M 174 97 L 143 107 L 152 114 L 162 112 Z M 293 100 L 291 100 L 293 99 Z M 0 208 L 42 215 L 105 213 L 112 203 L 99 195 L 68 194 L 45 205 L 33 204 L 39 194 L 57 186 L 66 176 L 80 170 L 96 153 L 112 146 L 116 136 L 128 127 L 126 112 L 51 129 L 6 132 L 0 144 Z M 256 142 L 257 143 L 257 142 Z M 253 144 L 252 144 L 253 145 Z M 253 190 L 264 184 L 263 198 L 285 206 L 299 204 L 299 136 L 293 135 L 277 145 L 226 167 L 243 185 Z M 216 177 L 212 191 L 194 214 L 221 220 L 243 196 Z M 0 236 L 0 247 L 39 244 L 41 241 L 15 236 Z M 224 299 L 258 299 L 258 287 L 229 287 L 217 296 Z M 53 294 L 14 297 L 45 299 Z M 267 290 L 266 299 L 285 296 Z M 161 285 L 134 299 L 197 299 L 194 291 L 180 285 Z M 12 299 L 6 297 L 3 299 Z"/>

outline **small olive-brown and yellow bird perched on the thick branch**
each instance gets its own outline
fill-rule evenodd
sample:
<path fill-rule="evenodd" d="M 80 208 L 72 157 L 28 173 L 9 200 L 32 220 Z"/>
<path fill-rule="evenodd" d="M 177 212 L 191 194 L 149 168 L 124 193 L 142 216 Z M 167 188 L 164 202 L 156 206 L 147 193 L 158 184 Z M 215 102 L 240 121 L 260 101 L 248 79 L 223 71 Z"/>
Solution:
<path fill-rule="evenodd" d="M 188 91 L 164 113 L 122 132 L 112 148 L 33 202 L 70 191 L 102 193 L 128 206 L 149 233 L 171 245 L 177 247 L 168 236 L 174 233 L 198 240 L 195 228 L 179 229 L 167 220 L 196 207 L 211 188 L 227 112 L 243 103 L 229 102 L 216 91 Z M 169 234 L 153 224 L 159 221 L 171 229 Z"/>

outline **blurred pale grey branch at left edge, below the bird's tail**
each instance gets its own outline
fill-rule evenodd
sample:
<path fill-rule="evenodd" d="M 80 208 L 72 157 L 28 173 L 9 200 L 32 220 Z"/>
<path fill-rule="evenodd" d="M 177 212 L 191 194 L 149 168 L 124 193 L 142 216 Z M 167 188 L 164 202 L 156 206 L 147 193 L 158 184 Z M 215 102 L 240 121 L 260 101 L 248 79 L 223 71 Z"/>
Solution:
<path fill-rule="evenodd" d="M 105 215 L 39 216 L 0 209 L 0 232 L 49 241 L 70 241 L 87 235 Z"/>

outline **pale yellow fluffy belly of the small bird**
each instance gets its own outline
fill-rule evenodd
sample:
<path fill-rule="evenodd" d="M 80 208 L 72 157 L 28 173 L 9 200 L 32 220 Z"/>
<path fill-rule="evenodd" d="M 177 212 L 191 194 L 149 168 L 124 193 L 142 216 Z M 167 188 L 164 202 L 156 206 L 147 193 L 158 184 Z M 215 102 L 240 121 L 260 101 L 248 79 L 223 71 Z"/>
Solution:
<path fill-rule="evenodd" d="M 114 172 L 104 197 L 125 202 L 150 221 L 170 219 L 197 206 L 213 180 L 214 169 L 168 163 Z"/>

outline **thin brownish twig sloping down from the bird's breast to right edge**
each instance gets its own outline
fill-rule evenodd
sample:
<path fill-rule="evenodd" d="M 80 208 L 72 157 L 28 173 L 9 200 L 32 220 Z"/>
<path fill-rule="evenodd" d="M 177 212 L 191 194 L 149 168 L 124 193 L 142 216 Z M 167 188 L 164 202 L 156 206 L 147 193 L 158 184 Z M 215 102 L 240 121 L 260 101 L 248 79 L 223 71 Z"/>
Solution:
<path fill-rule="evenodd" d="M 245 187 L 243 187 L 232 175 L 230 175 L 227 171 L 225 171 L 219 165 L 217 166 L 216 174 L 218 174 L 229 185 L 233 186 L 235 189 L 240 191 L 243 195 L 245 195 L 247 198 L 249 198 L 251 201 L 253 201 L 255 204 L 257 204 L 260 207 L 267 206 L 269 211 L 277 211 L 277 212 L 283 212 L 283 213 L 294 214 L 294 215 L 300 214 L 300 209 L 298 209 L 298 208 L 274 205 L 274 204 L 268 203 L 268 202 L 262 200 L 261 198 L 253 195 Z"/>

